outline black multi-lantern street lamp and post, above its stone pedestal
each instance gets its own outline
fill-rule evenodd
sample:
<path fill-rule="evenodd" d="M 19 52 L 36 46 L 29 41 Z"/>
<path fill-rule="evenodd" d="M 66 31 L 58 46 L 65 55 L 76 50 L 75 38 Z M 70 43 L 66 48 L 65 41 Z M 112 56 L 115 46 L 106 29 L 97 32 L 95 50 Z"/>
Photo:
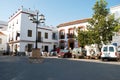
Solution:
<path fill-rule="evenodd" d="M 33 23 L 36 23 L 36 40 L 35 40 L 35 49 L 37 49 L 37 42 L 38 42 L 38 31 L 37 31 L 37 28 L 38 28 L 38 25 L 40 23 L 44 23 L 45 21 L 45 16 L 43 14 L 39 15 L 39 12 L 37 11 L 36 15 L 33 15 L 33 14 L 30 14 L 29 15 L 29 19 L 33 22 Z"/>

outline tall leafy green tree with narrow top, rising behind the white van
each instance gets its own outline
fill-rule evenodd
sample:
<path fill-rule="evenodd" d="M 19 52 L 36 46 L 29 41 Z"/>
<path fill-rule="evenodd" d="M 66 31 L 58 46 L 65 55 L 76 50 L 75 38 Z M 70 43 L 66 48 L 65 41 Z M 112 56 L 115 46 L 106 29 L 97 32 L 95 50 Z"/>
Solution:
<path fill-rule="evenodd" d="M 106 7 L 107 2 L 105 0 L 97 1 L 93 7 L 94 14 L 89 20 L 88 31 L 94 32 L 93 40 L 96 44 L 110 43 L 116 26 L 114 15 L 109 14 Z"/>

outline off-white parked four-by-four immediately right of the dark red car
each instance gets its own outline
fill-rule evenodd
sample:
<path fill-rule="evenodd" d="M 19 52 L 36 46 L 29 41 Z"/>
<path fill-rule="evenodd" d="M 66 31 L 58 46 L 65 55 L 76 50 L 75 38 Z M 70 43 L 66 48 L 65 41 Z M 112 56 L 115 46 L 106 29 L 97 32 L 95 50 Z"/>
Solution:
<path fill-rule="evenodd" d="M 81 47 L 74 48 L 72 50 L 72 56 L 73 56 L 73 58 L 84 58 L 84 56 L 85 56 L 84 50 Z"/>

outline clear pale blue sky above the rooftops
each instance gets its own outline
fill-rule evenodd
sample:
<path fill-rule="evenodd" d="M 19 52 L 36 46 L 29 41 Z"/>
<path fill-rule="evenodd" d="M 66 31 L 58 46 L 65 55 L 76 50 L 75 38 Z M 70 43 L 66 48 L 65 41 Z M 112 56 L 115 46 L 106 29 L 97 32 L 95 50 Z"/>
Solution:
<path fill-rule="evenodd" d="M 61 23 L 90 18 L 97 0 L 1 0 L 0 20 L 8 18 L 21 6 L 26 9 L 39 10 L 45 15 L 45 24 L 57 26 Z M 120 0 L 106 0 L 107 8 L 120 5 Z"/>

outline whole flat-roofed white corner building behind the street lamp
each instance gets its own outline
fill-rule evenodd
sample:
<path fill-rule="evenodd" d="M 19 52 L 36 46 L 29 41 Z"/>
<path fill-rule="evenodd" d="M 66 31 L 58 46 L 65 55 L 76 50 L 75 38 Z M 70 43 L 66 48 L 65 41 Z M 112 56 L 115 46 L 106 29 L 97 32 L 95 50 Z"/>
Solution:
<path fill-rule="evenodd" d="M 21 8 L 18 9 L 8 21 L 8 43 L 10 51 L 17 50 L 20 53 L 31 52 L 35 48 L 36 24 L 29 20 L 29 15 L 36 15 L 36 11 Z M 54 49 L 58 45 L 57 29 L 45 25 L 38 25 L 38 48 L 46 51 Z"/>

